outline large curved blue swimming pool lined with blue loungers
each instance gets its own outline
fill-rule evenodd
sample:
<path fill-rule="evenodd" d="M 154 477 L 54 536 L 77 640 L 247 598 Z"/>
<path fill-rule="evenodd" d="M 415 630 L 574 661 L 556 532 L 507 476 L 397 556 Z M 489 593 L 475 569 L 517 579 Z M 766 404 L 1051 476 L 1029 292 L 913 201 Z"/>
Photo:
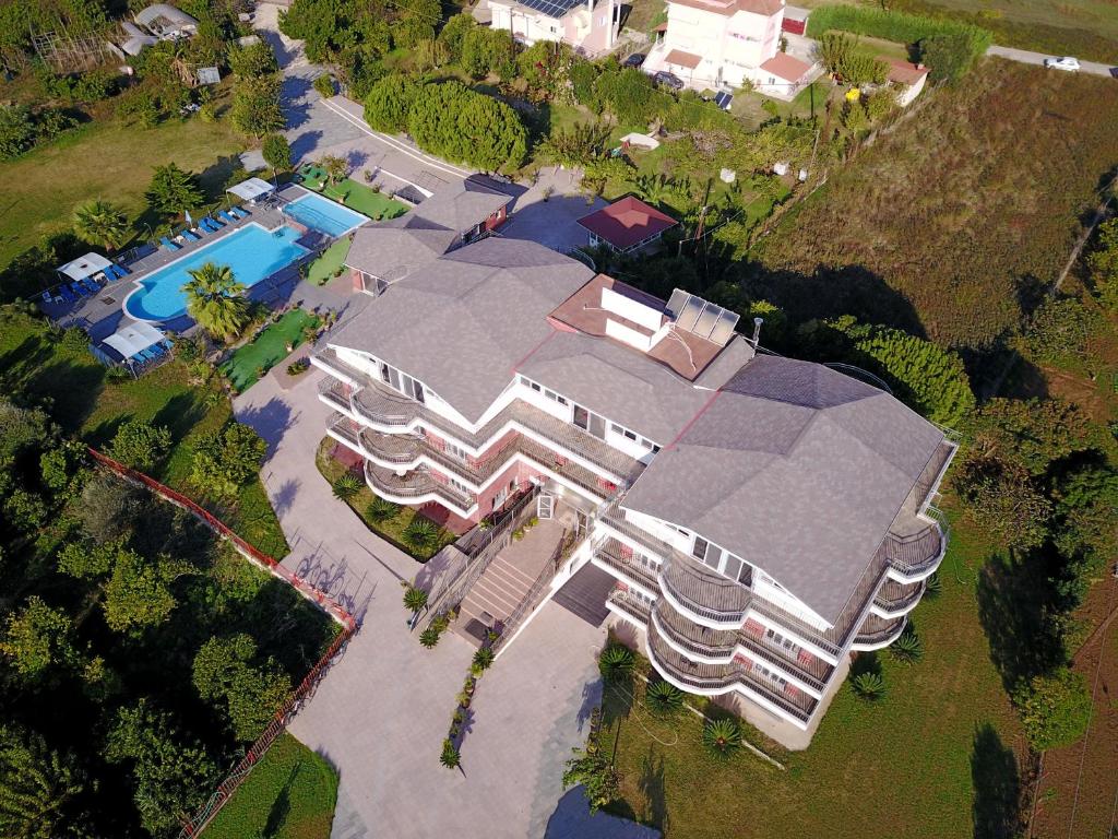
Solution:
<path fill-rule="evenodd" d="M 295 244 L 299 237 L 294 227 L 283 226 L 272 232 L 257 224 L 246 225 L 141 279 L 141 287 L 124 302 L 124 311 L 139 320 L 155 321 L 184 314 L 187 295 L 182 286 L 190 282 L 187 272 L 207 262 L 228 265 L 238 283 L 252 287 L 307 253 Z"/>

